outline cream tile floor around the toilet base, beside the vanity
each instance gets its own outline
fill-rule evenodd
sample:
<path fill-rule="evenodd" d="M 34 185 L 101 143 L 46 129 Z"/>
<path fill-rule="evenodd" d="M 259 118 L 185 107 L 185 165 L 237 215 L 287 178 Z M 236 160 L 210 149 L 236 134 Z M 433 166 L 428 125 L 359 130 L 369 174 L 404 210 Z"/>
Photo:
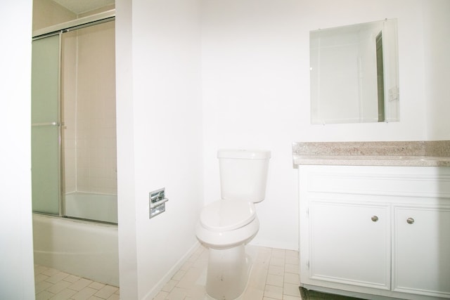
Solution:
<path fill-rule="evenodd" d="M 247 252 L 254 263 L 241 300 L 300 300 L 297 251 L 247 246 Z M 207 257 L 200 245 L 154 300 L 210 299 L 205 291 Z"/>

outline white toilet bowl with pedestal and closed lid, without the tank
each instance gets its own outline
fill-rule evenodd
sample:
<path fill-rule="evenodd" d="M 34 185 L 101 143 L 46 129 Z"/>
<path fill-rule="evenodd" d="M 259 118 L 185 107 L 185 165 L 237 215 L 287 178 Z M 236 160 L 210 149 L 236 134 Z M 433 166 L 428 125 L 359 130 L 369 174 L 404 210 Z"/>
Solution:
<path fill-rule="evenodd" d="M 236 299 L 245 290 L 252 266 L 245 244 L 259 230 L 254 207 L 252 202 L 219 200 L 200 214 L 196 234 L 209 248 L 206 292 L 214 299 Z"/>

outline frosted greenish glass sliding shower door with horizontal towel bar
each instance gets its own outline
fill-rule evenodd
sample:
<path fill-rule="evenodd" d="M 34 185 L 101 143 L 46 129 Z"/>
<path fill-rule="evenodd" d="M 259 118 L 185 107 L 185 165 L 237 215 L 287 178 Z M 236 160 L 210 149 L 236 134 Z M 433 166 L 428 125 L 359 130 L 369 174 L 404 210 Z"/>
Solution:
<path fill-rule="evenodd" d="M 32 208 L 60 214 L 60 34 L 32 41 Z"/>

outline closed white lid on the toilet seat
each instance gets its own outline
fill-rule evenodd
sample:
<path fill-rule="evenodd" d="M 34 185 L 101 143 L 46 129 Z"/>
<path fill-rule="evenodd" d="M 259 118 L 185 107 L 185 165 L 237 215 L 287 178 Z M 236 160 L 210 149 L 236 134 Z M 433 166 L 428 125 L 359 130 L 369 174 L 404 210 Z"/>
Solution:
<path fill-rule="evenodd" d="M 203 208 L 200 223 L 208 230 L 234 230 L 247 225 L 255 217 L 256 209 L 252 202 L 219 200 Z"/>

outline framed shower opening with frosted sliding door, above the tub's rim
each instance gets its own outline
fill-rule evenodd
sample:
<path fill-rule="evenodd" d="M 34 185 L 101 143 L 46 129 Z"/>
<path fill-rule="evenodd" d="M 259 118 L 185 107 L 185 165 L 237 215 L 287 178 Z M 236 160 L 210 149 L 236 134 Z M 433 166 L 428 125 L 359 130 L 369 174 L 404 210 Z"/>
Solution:
<path fill-rule="evenodd" d="M 114 17 L 74 24 L 32 41 L 32 207 L 117 223 Z"/>

